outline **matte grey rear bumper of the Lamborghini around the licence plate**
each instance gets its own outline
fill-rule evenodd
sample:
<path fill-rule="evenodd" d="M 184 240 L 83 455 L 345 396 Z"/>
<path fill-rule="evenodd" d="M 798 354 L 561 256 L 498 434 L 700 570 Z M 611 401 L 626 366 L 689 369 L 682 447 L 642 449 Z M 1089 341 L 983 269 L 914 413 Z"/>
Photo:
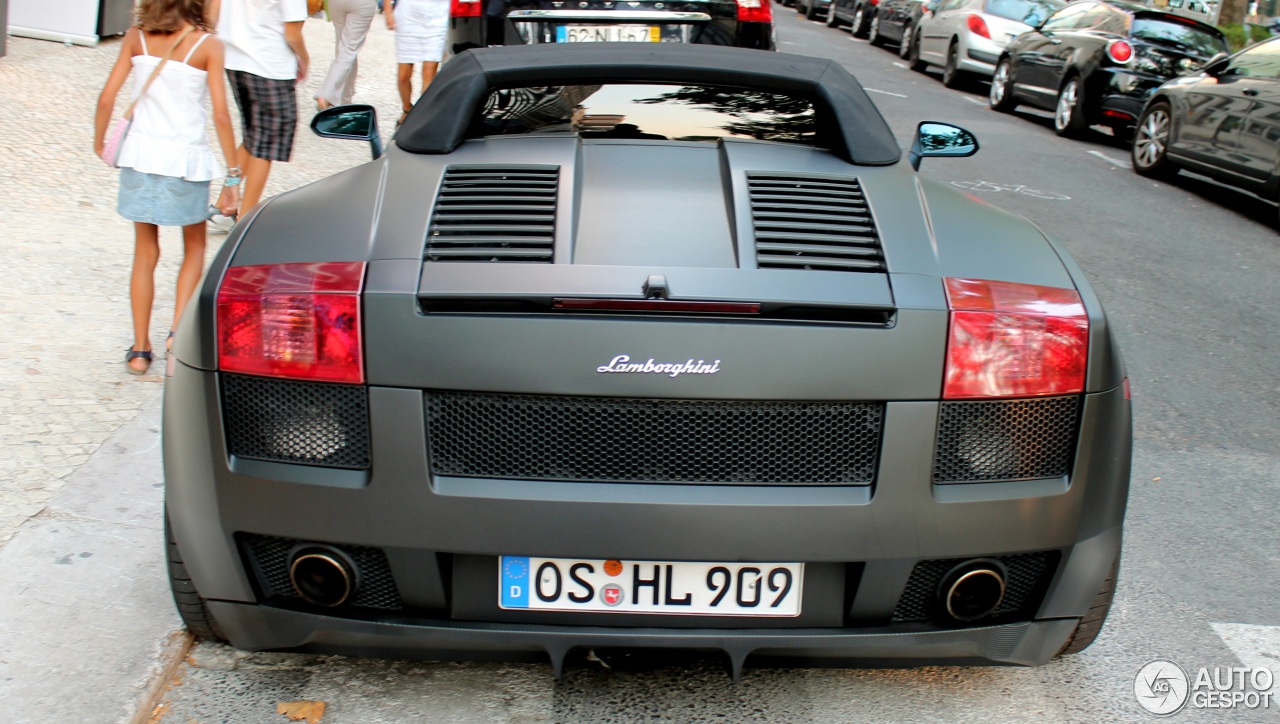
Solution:
<path fill-rule="evenodd" d="M 165 394 L 166 504 L 196 588 L 214 601 L 236 646 L 422 657 L 504 651 L 553 663 L 580 646 L 675 646 L 735 660 L 1039 664 L 1087 613 L 1120 549 L 1130 432 L 1119 389 L 1085 397 L 1084 444 L 1070 478 L 931 484 L 938 404 L 896 402 L 886 405 L 876 484 L 827 487 L 433 476 L 422 391 L 369 393 L 370 471 L 229 460 L 216 374 L 174 366 Z M 264 605 L 237 542 L 246 533 L 381 549 L 403 609 L 326 615 Z M 919 562 L 1030 551 L 1053 551 L 1056 563 L 1020 620 L 951 629 L 891 623 Z M 814 619 L 805 622 L 817 624 L 650 618 L 620 626 L 611 614 L 531 620 L 485 613 L 497 608 L 497 581 L 467 578 L 458 562 L 497 555 L 800 562 L 858 574 L 833 573 L 822 597 L 806 599 Z"/>

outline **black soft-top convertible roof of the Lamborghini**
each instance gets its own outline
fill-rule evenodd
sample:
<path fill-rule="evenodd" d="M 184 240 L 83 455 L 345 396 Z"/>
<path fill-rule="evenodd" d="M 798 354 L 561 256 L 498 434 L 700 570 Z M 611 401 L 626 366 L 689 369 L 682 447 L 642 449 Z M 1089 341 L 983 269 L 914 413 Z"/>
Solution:
<path fill-rule="evenodd" d="M 800 95 L 835 115 L 831 151 L 846 161 L 883 166 L 901 150 L 847 70 L 818 58 L 686 43 L 544 43 L 484 47 L 444 64 L 396 134 L 413 153 L 448 153 L 462 143 L 476 109 L 495 88 L 600 82 L 707 83 Z"/>

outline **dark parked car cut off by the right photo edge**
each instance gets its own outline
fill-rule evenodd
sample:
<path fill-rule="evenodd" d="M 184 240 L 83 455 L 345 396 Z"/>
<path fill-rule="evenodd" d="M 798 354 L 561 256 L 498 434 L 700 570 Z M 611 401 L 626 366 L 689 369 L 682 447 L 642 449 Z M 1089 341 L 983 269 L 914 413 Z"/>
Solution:
<path fill-rule="evenodd" d="M 1280 38 L 1157 88 L 1133 139 L 1133 169 L 1144 177 L 1187 168 L 1268 201 L 1280 198 L 1277 159 Z"/>

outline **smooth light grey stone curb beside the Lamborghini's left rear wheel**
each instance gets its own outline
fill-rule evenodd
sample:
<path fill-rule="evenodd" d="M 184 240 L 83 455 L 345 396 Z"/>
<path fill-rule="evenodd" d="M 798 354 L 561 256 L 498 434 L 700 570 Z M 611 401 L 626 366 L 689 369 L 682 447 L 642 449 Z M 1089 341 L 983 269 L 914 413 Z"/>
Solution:
<path fill-rule="evenodd" d="M 191 646 L 165 573 L 161 395 L 0 549 L 6 724 L 146 721 Z"/>

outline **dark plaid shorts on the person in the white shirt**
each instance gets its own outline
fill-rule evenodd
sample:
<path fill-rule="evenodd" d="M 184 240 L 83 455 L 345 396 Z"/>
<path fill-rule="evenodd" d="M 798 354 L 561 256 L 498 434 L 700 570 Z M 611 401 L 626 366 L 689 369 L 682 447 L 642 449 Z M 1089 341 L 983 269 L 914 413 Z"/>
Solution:
<path fill-rule="evenodd" d="M 227 81 L 241 109 L 244 148 L 255 159 L 288 161 L 298 127 L 297 81 L 275 81 L 228 70 Z"/>

